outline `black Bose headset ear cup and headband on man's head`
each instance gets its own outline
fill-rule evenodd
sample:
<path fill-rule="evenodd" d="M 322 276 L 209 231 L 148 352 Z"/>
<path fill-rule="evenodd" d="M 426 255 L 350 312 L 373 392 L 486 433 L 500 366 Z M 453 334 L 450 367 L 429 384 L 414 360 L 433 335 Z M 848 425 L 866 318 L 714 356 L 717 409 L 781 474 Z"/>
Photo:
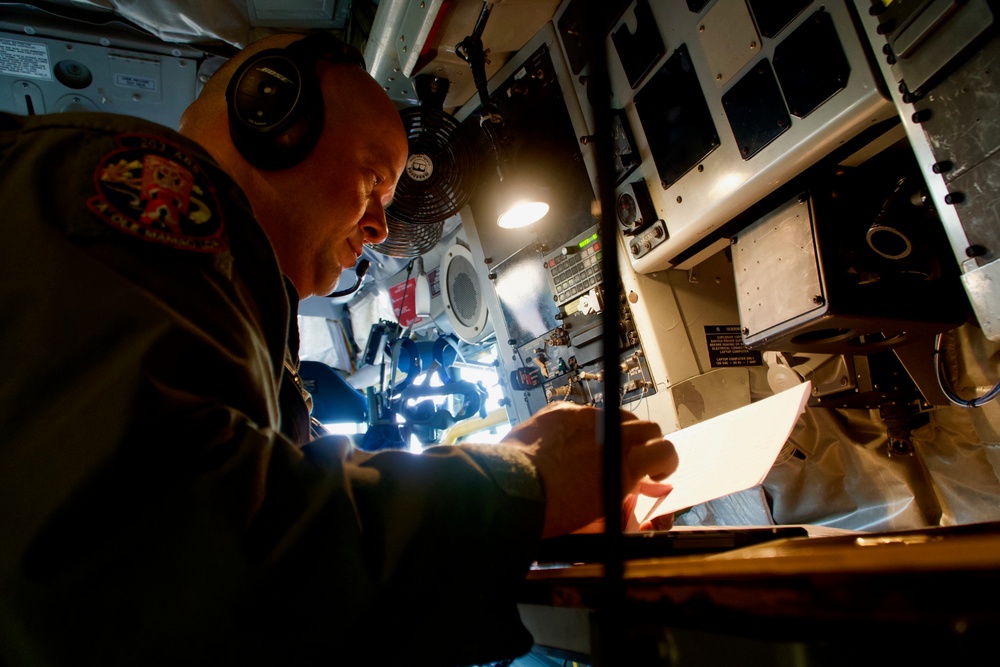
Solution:
<path fill-rule="evenodd" d="M 366 69 L 358 49 L 317 32 L 285 48 L 256 53 L 233 74 L 226 90 L 229 136 L 250 164 L 287 169 L 316 146 L 323 132 L 320 60 Z"/>

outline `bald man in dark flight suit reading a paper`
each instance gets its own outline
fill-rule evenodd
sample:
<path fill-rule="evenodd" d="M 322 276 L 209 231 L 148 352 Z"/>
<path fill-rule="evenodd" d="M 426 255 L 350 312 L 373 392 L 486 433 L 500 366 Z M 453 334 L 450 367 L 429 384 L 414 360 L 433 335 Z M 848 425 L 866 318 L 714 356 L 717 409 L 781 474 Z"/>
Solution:
<path fill-rule="evenodd" d="M 310 441 L 289 322 L 385 238 L 407 144 L 367 73 L 303 40 L 315 145 L 280 168 L 238 147 L 230 82 L 298 40 L 241 52 L 181 134 L 0 115 L 0 662 L 512 657 L 538 538 L 601 514 L 591 408 L 420 455 Z M 615 444 L 627 490 L 676 467 L 632 415 Z"/>

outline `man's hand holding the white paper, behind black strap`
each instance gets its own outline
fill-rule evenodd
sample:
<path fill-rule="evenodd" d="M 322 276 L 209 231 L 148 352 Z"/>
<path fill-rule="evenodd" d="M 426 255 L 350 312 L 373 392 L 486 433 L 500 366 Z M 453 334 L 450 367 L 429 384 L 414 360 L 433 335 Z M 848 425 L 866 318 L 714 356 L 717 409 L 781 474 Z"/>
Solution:
<path fill-rule="evenodd" d="M 603 515 L 603 454 L 597 442 L 602 414 L 597 408 L 575 403 L 552 403 L 504 438 L 504 444 L 522 446 L 541 476 L 546 496 L 542 537 L 577 531 Z M 621 412 L 620 448 L 626 497 L 647 476 L 662 481 L 677 468 L 677 453 L 663 439 L 660 427 L 625 410 Z M 647 488 L 652 492 L 647 495 L 667 492 Z"/>

